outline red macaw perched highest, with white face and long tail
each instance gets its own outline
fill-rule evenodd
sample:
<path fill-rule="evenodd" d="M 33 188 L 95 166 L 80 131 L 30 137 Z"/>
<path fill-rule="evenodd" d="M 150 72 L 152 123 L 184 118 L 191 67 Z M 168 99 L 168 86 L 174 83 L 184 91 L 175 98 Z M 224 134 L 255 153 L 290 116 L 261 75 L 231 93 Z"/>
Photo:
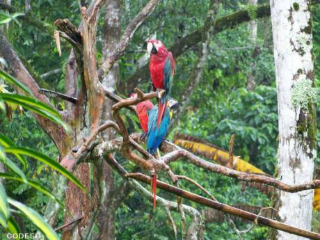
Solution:
<path fill-rule="evenodd" d="M 157 92 L 161 89 L 166 90 L 160 98 L 158 97 L 157 127 L 159 127 L 170 96 L 170 88 L 175 75 L 175 60 L 173 54 L 159 40 L 147 40 L 147 51 L 151 56 L 149 70 L 152 86 Z"/>

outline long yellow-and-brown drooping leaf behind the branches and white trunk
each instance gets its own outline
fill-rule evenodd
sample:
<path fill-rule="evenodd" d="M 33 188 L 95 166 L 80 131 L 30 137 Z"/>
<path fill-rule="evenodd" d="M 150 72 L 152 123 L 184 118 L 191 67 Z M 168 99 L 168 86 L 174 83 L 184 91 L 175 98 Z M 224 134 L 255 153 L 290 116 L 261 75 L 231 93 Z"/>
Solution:
<path fill-rule="evenodd" d="M 175 145 L 179 145 L 180 147 L 183 147 L 201 157 L 212 159 L 223 166 L 227 166 L 227 163 L 229 162 L 229 152 L 222 150 L 216 145 L 194 138 L 193 136 L 177 134 L 173 142 Z M 233 157 L 233 166 L 235 170 L 241 172 L 266 175 L 264 171 L 256 168 L 251 163 L 244 161 L 240 157 Z M 320 189 L 314 189 L 313 207 L 314 211 L 320 211 Z"/>

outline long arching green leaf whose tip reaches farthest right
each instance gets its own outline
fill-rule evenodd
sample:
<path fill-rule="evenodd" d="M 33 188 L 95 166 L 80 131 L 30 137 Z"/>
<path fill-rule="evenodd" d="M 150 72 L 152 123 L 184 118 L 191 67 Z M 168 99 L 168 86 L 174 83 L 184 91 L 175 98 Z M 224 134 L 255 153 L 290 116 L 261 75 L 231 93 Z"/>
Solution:
<path fill-rule="evenodd" d="M 38 161 L 41 161 L 42 163 L 45 163 L 54 170 L 58 171 L 58 173 L 61 173 L 63 176 L 67 177 L 67 179 L 70 179 L 70 181 L 79 186 L 80 189 L 86 191 L 81 182 L 79 182 L 79 180 L 76 177 L 74 177 L 72 173 L 70 173 L 67 169 L 63 168 L 63 166 L 57 163 L 54 159 L 51 159 L 51 157 L 48 157 L 45 154 L 35 152 L 34 150 L 30 150 L 26 147 L 8 147 L 4 149 L 4 152 L 12 154 L 23 154 L 29 157 L 33 157 L 34 159 L 37 159 Z"/>

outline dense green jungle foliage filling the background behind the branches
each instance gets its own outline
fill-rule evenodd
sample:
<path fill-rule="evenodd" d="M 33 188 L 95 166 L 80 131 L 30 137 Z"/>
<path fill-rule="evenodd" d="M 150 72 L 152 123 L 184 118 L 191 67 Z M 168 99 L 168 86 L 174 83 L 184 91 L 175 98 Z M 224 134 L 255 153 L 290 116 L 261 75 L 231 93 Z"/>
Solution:
<path fill-rule="evenodd" d="M 29 2 L 29 1 L 26 1 Z M 68 18 L 75 26 L 81 22 L 79 3 L 73 0 L 38 0 L 30 1 L 30 9 L 26 13 L 25 1 L 11 1 L 16 13 L 32 15 L 45 22 L 45 27 L 53 33 L 54 22 L 58 18 Z M 121 31 L 145 6 L 145 0 L 120 1 Z M 259 5 L 269 1 L 258 1 Z M 120 81 L 115 93 L 127 97 L 133 91 L 130 77 L 139 67 L 145 65 L 145 40 L 157 38 L 167 47 L 189 33 L 200 29 L 206 19 L 209 1 L 161 1 L 154 13 L 148 17 L 136 31 L 133 40 L 119 61 Z M 216 18 L 229 15 L 239 10 L 253 9 L 248 1 L 226 0 L 218 8 Z M 105 7 L 101 15 L 104 15 Z M 320 62 L 320 6 L 313 5 L 312 33 L 314 49 L 314 72 L 316 85 L 319 87 Z M 3 9 L 6 12 L 6 10 Z M 1 16 L 1 15 L 0 15 Z M 255 16 L 253 16 L 255 18 Z M 0 19 L 1 20 L 1 19 Z M 273 61 L 273 42 L 270 17 L 256 19 L 257 37 L 251 38 L 252 29 L 248 22 L 241 23 L 232 29 L 212 35 L 209 44 L 209 53 L 200 82 L 193 86 L 187 96 L 188 102 L 179 119 L 175 121 L 168 139 L 173 141 L 176 134 L 188 134 L 212 143 L 224 150 L 229 150 L 230 136 L 234 134 L 234 155 L 250 162 L 269 175 L 275 175 L 277 166 L 278 148 L 278 110 L 275 90 L 275 72 Z M 97 56 L 102 61 L 104 40 L 102 31 L 104 19 L 100 18 L 97 31 Z M 65 65 L 70 54 L 70 46 L 61 42 L 62 56 L 58 56 L 53 34 L 43 31 L 28 21 L 17 17 L 17 22 L 11 21 L 2 27 L 3 33 L 13 45 L 17 54 L 28 67 L 41 88 L 64 92 Z M 172 97 L 182 99 L 184 90 L 189 83 L 188 79 L 193 66 L 198 60 L 200 44 L 193 45 L 183 52 L 176 60 L 176 74 L 173 82 Z M 31 67 L 32 66 L 32 67 Z M 52 72 L 54 70 L 54 72 Z M 48 74 L 49 73 L 49 74 Z M 248 81 L 254 81 L 251 86 Z M 150 79 L 142 81 L 138 87 L 145 92 L 150 90 Z M 6 88 L 13 91 L 13 88 Z M 59 110 L 65 109 L 65 102 L 51 99 Z M 318 125 L 319 125 L 319 109 Z M 29 111 L 13 111 L 8 118 L 6 113 L 0 113 L 0 132 L 6 134 L 17 145 L 30 147 L 48 156 L 58 159 L 56 146 L 41 129 Z M 127 115 L 129 131 L 140 131 L 138 118 Z M 318 132 L 318 139 L 319 138 Z M 318 141 L 318 145 L 320 141 Z M 121 158 L 120 156 L 118 158 Z M 211 159 L 210 159 L 211 160 Z M 133 164 L 122 159 L 127 169 L 133 169 Z M 42 163 L 30 161 L 27 175 L 35 178 L 44 186 L 53 189 L 54 175 Z M 320 164 L 318 157 L 316 165 Z M 173 170 L 177 174 L 188 172 L 188 176 L 197 179 L 218 201 L 228 205 L 271 206 L 271 193 L 264 194 L 236 179 L 221 175 L 209 174 L 205 170 L 196 169 L 182 163 L 173 163 Z M 35 175 L 37 177 L 35 177 Z M 163 176 L 164 177 L 164 176 Z M 164 177 L 165 178 L 165 177 Z M 113 173 L 115 186 L 120 186 L 123 179 Z M 19 184 L 10 180 L 4 182 L 7 194 L 24 204 L 33 207 L 40 214 L 45 211 L 49 198 L 38 191 L 34 191 L 26 184 Z M 202 194 L 194 186 L 182 182 L 184 189 Z M 160 193 L 167 199 L 175 201 L 175 197 L 168 193 Z M 186 201 L 187 204 L 205 212 L 206 208 Z M 64 213 L 58 215 L 56 227 L 63 225 Z M 166 211 L 157 209 L 152 211 L 150 202 L 128 190 L 125 197 L 118 202 L 115 209 L 115 237 L 116 239 L 174 239 Z M 181 229 L 179 214 L 173 214 L 178 230 Z M 214 221 L 205 220 L 204 239 L 239 239 L 230 223 L 226 219 Z M 189 217 L 186 219 L 191 221 Z M 236 218 L 239 229 L 250 225 L 246 221 Z M 36 228 L 29 221 L 23 220 L 19 225 L 24 232 L 36 232 Z M 314 211 L 314 231 L 320 231 L 320 214 Z M 95 228 L 97 231 L 97 227 Z M 181 231 L 178 231 L 181 234 Z M 266 239 L 269 232 L 266 227 L 256 226 L 243 234 L 243 239 Z"/>

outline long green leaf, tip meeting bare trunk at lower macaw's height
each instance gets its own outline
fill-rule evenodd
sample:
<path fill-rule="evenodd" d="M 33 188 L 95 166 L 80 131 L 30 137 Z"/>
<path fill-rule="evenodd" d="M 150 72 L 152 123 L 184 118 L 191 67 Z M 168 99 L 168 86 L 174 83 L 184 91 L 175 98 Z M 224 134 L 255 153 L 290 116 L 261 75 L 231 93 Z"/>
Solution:
<path fill-rule="evenodd" d="M 20 105 L 25 109 L 29 109 L 35 113 L 38 113 L 39 115 L 48 118 L 52 122 L 56 122 L 59 125 L 62 125 L 66 131 L 70 131 L 70 127 L 65 122 L 63 122 L 61 115 L 54 109 L 51 109 L 49 106 L 44 104 L 43 102 L 40 102 L 31 97 L 25 97 L 10 93 L 0 93 L 0 98 L 2 98 L 3 101 Z"/>

